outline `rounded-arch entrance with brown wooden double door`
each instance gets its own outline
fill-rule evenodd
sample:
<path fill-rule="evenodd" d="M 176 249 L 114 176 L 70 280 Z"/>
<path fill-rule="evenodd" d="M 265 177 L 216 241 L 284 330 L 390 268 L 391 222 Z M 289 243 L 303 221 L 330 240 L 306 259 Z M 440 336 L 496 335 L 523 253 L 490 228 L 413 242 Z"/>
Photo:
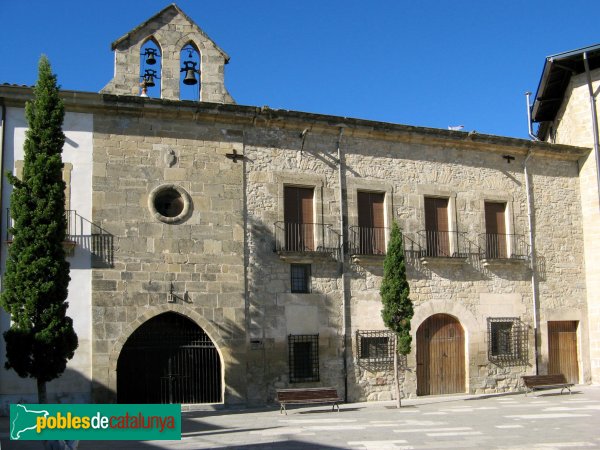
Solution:
<path fill-rule="evenodd" d="M 417 395 L 465 392 L 465 337 L 460 322 L 434 314 L 417 330 Z"/>

